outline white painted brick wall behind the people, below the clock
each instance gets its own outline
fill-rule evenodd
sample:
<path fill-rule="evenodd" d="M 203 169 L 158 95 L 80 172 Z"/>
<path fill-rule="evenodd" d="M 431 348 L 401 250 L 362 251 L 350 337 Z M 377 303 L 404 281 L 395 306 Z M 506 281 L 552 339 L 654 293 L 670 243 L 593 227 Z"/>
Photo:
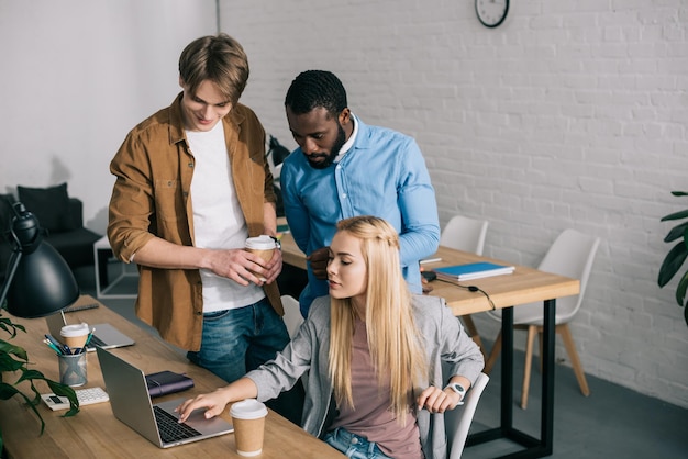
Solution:
<path fill-rule="evenodd" d="M 586 371 L 688 406 L 688 327 L 676 281 L 656 284 L 659 219 L 688 206 L 669 194 L 688 190 L 688 3 L 511 3 L 488 30 L 471 1 L 228 0 L 221 29 L 246 47 L 243 101 L 270 134 L 295 146 L 286 89 L 334 71 L 355 113 L 417 137 L 443 224 L 491 222 L 486 255 L 536 266 L 566 227 L 600 236 L 572 324 Z"/>

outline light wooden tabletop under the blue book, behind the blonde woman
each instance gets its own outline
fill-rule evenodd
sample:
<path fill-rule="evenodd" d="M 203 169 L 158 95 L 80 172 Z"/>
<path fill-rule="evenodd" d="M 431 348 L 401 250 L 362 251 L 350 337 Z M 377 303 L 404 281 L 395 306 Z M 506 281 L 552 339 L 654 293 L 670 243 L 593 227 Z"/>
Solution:
<path fill-rule="evenodd" d="M 282 235 L 281 246 L 284 262 L 306 269 L 306 256 L 295 243 L 291 234 L 286 233 Z M 443 246 L 440 246 L 437 253 L 430 258 L 441 258 L 442 260 L 424 265 L 424 268 L 428 270 L 441 266 L 475 261 L 491 261 L 504 265 L 502 260 Z M 479 287 L 490 296 L 497 309 L 570 296 L 578 294 L 580 291 L 580 282 L 577 279 L 539 271 L 525 266 L 515 266 L 515 270 L 511 275 L 476 279 L 462 284 Z M 492 309 L 489 301 L 480 292 L 470 292 L 467 289 L 460 289 L 455 284 L 441 280 L 432 281 L 431 286 L 433 290 L 430 294 L 444 298 L 450 307 L 452 307 L 454 315 L 473 314 Z"/>

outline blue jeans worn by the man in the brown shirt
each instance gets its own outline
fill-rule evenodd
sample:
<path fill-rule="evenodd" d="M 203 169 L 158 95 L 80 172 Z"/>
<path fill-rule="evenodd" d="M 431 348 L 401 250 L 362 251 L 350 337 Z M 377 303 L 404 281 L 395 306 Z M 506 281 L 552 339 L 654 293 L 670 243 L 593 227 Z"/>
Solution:
<path fill-rule="evenodd" d="M 267 298 L 236 310 L 203 314 L 201 349 L 187 358 L 233 382 L 275 358 L 289 343 L 281 317 Z"/>

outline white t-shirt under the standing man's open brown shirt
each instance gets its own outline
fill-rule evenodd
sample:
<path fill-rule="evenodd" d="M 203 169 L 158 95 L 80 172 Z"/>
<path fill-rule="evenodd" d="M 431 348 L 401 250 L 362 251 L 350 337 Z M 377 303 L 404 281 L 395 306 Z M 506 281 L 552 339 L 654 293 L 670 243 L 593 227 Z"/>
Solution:
<path fill-rule="evenodd" d="M 248 228 L 234 189 L 222 122 L 211 131 L 186 131 L 186 134 L 196 158 L 191 180 L 195 245 L 213 249 L 243 248 Z M 244 287 L 208 269 L 200 272 L 204 313 L 243 307 L 265 296 L 255 283 Z"/>

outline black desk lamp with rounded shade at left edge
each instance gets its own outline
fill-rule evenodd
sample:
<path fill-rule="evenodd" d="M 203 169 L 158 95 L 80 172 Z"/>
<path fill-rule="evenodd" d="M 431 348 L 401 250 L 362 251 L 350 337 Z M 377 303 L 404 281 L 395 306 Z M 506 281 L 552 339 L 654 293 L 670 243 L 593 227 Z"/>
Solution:
<path fill-rule="evenodd" d="M 10 314 L 43 317 L 67 307 L 79 298 L 79 287 L 67 261 L 43 240 L 44 229 L 21 202 L 12 206 L 14 216 L 8 232 L 12 255 L 0 294 L 7 298 Z"/>

